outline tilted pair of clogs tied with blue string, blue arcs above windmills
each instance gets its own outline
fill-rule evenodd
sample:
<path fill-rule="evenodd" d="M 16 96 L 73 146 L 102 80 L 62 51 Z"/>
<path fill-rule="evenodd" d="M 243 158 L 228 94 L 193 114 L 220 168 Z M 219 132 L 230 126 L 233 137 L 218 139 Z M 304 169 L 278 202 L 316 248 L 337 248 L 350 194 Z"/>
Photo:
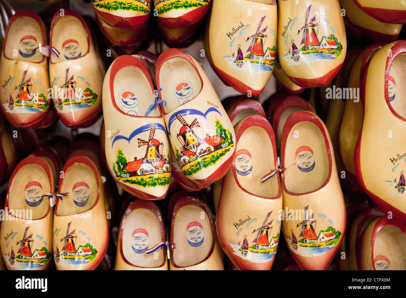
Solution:
<path fill-rule="evenodd" d="M 158 91 L 142 61 L 120 56 L 104 80 L 108 169 L 123 189 L 142 199 L 165 197 L 171 168 L 186 190 L 203 189 L 231 165 L 235 151 L 231 121 L 190 55 L 168 49 L 159 56 Z"/>

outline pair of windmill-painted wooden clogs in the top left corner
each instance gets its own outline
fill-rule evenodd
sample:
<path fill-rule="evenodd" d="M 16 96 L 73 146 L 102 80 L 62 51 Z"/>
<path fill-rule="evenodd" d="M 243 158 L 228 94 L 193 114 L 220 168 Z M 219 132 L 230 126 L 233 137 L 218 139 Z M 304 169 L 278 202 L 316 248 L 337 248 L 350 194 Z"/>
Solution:
<path fill-rule="evenodd" d="M 88 26 L 70 9 L 52 18 L 49 45 L 36 13 L 15 13 L 0 69 L 1 109 L 16 127 L 47 127 L 56 113 L 65 126 L 88 126 L 100 115 L 104 66 Z"/>

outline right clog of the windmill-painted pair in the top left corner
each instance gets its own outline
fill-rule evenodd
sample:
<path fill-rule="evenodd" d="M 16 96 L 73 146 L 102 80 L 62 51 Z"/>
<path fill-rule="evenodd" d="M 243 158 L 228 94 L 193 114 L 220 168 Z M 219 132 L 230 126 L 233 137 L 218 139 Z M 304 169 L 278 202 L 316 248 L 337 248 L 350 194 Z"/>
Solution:
<path fill-rule="evenodd" d="M 67 30 L 69 28 L 69 30 Z M 72 33 L 74 32 L 74 34 Z M 50 44 L 50 81 L 54 106 L 67 127 L 89 126 L 102 109 L 103 72 L 93 38 L 84 20 L 65 9 L 52 18 Z"/>

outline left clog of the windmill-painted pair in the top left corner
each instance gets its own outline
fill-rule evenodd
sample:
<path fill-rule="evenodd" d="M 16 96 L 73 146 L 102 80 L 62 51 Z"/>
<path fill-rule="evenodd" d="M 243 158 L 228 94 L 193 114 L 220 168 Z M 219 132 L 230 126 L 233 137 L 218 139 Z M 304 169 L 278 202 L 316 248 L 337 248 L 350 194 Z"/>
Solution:
<path fill-rule="evenodd" d="M 39 51 L 47 45 L 45 27 L 33 11 L 10 18 L 0 61 L 1 110 L 16 127 L 41 121 L 52 104 L 48 99 L 48 61 Z"/>

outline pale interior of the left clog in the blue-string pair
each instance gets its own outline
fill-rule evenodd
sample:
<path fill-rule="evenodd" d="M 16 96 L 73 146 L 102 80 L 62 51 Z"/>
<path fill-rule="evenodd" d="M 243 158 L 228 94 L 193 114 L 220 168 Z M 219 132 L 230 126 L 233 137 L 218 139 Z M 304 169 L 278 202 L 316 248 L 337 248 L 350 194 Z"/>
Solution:
<path fill-rule="evenodd" d="M 147 77 L 136 66 L 126 66 L 120 69 L 114 77 L 113 86 L 117 107 L 126 114 L 144 116 L 150 105 L 155 102 L 155 96 Z M 159 109 L 153 109 L 148 114 L 150 117 L 159 115 Z"/>

